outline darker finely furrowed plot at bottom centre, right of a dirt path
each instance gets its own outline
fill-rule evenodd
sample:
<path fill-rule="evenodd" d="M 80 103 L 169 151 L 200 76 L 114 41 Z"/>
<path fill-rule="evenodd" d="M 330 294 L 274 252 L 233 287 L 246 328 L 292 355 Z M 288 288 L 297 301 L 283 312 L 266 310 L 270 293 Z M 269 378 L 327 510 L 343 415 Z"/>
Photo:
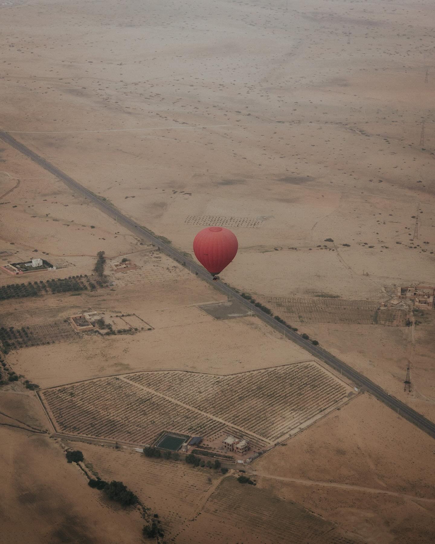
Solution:
<path fill-rule="evenodd" d="M 240 485 L 235 478 L 222 481 L 204 505 L 203 515 L 210 517 L 210 521 L 224 519 L 227 526 L 246 527 L 245 542 L 333 544 L 340 541 L 331 522 L 268 490 Z M 219 537 L 216 540 L 220 541 Z"/>

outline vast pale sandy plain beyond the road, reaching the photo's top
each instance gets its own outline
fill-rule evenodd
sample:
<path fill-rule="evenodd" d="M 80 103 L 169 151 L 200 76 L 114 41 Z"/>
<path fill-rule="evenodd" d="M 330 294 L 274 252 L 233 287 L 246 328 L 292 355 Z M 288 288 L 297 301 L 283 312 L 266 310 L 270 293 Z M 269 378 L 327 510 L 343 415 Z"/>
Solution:
<path fill-rule="evenodd" d="M 197 230 L 189 217 L 260 219 L 258 228 L 235 228 L 241 251 L 225 277 L 236 285 L 364 298 L 397 277 L 431 279 L 425 7 L 368 13 L 314 0 L 228 11 L 197 1 L 171 14 L 154 3 L 145 14 L 135 3 L 122 11 L 105 3 L 99 20 L 101 3 L 79 3 L 77 13 L 57 13 L 68 43 L 50 28 L 48 45 L 49 5 L 21 8 L 41 22 L 32 29 L 9 11 L 28 38 L 4 36 L 13 60 L 4 129 L 186 251 Z M 32 97 L 25 111 L 23 94 Z M 417 213 L 420 247 L 410 250 Z M 350 248 L 315 250 L 328 237 Z M 275 247 L 282 251 L 264 253 Z"/>

